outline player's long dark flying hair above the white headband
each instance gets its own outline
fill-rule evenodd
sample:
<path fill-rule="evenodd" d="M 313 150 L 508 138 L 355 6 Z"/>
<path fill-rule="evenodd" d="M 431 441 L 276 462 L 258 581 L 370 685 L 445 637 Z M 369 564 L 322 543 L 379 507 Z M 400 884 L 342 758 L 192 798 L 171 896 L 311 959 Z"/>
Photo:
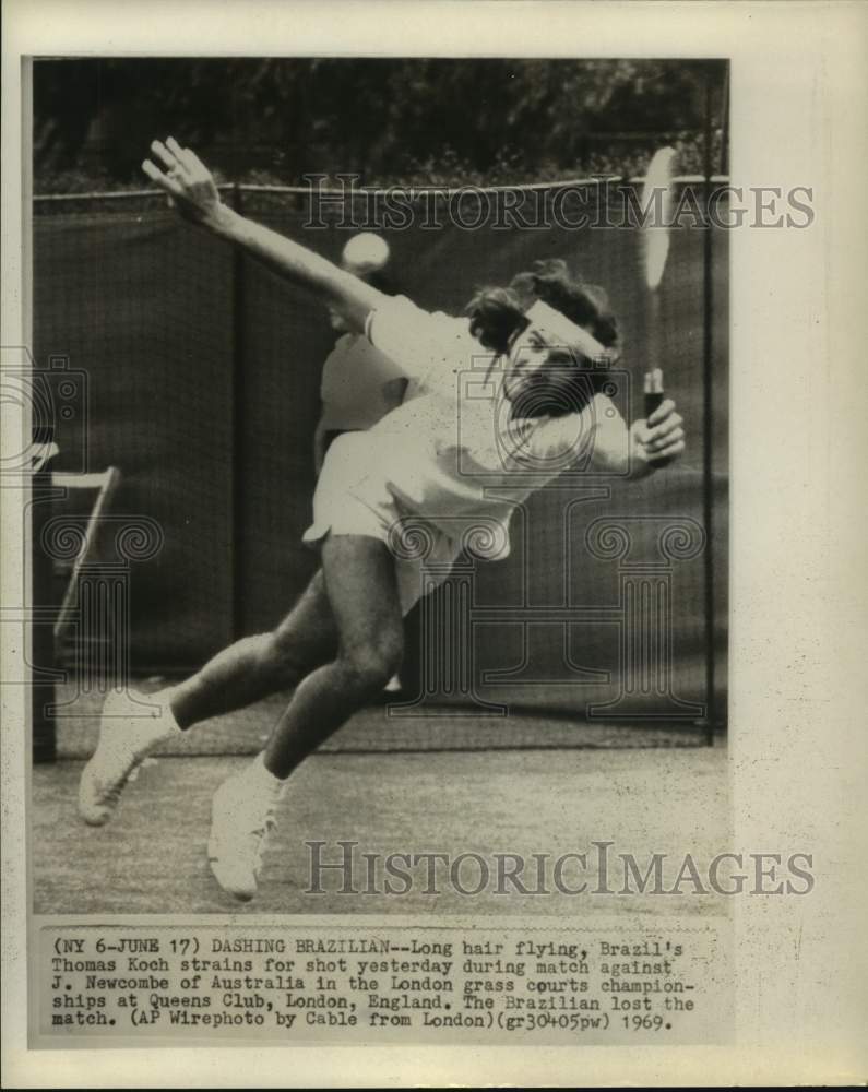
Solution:
<path fill-rule="evenodd" d="M 524 312 L 537 299 L 583 327 L 606 348 L 620 347 L 605 289 L 571 275 L 560 258 L 534 262 L 507 288 L 480 288 L 465 308 L 471 332 L 486 348 L 506 353 L 513 336 L 526 328 Z"/>

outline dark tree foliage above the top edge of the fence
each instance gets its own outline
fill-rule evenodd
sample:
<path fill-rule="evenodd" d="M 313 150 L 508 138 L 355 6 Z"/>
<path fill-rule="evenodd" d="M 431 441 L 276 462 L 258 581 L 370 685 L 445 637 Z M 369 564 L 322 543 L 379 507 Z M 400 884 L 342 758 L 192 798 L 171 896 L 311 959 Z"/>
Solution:
<path fill-rule="evenodd" d="M 720 127 L 720 61 L 38 61 L 36 188 L 64 176 L 130 182 L 151 138 L 167 133 L 239 180 L 545 177 L 628 156 L 643 140 L 698 138 L 709 87 Z"/>

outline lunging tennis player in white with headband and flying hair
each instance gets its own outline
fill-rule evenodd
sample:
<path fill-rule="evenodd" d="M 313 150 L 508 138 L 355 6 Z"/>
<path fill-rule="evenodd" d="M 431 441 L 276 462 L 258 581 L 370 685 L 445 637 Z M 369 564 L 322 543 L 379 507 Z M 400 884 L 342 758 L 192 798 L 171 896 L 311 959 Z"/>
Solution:
<path fill-rule="evenodd" d="M 616 323 L 602 290 L 562 262 L 480 292 L 468 319 L 432 314 L 225 206 L 207 168 L 173 139 L 152 152 L 157 163 L 143 169 L 182 216 L 309 288 L 418 392 L 330 448 L 304 536 L 321 567 L 284 621 L 158 695 L 111 698 L 82 774 L 80 812 L 105 823 L 157 743 L 295 687 L 265 749 L 214 795 L 211 868 L 248 900 L 289 774 L 399 668 L 402 616 L 428 586 L 426 562 L 442 572 L 480 526 L 494 529 L 490 555 L 504 556 L 514 508 L 561 470 L 581 459 L 594 472 L 641 477 L 683 451 L 685 432 L 671 400 L 628 428 L 602 392 Z M 402 534 L 407 526 L 424 527 L 425 557 Z"/>

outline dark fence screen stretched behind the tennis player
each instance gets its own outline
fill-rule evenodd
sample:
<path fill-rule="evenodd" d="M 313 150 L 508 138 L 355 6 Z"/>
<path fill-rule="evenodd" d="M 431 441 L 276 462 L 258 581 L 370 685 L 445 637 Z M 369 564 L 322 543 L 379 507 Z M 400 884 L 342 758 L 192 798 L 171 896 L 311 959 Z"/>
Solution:
<path fill-rule="evenodd" d="M 618 224 L 618 192 L 591 190 L 595 218 Z M 309 200 L 296 192 L 234 192 L 247 215 L 332 259 L 352 234 L 352 225 L 337 223 L 335 207 L 325 212 L 329 227 L 309 226 Z M 506 283 L 535 259 L 566 258 L 609 293 L 633 380 L 628 408 L 641 415 L 646 290 L 638 230 L 570 226 L 578 206 L 561 202 L 556 216 L 555 189 L 542 197 L 514 192 L 521 202 L 533 201 L 519 207 L 537 217 L 542 209 L 549 225 L 527 229 L 513 216 L 497 226 L 489 216 L 467 229 L 450 221 L 448 197 L 428 195 L 436 224 L 417 215 L 407 229 L 384 228 L 395 282 L 423 307 L 460 313 L 480 284 Z M 473 213 L 465 207 L 466 223 Z M 365 211 L 354 210 L 356 224 L 368 226 Z M 556 218 L 560 225 L 551 223 Z M 162 527 L 158 554 L 132 566 L 132 667 L 188 670 L 234 636 L 273 626 L 316 567 L 300 536 L 311 510 L 320 368 L 332 343 L 324 311 L 148 195 L 37 199 L 34 249 L 37 367 L 55 365 L 55 385 L 81 373 L 75 404 L 59 422 L 55 465 L 118 466 L 122 484 L 114 511 L 147 515 Z M 686 419 L 688 452 L 647 482 L 611 483 L 606 497 L 584 496 L 574 476 L 533 497 L 516 520 L 512 556 L 473 568 L 472 704 L 506 701 L 578 713 L 591 703 L 595 715 L 609 708 L 627 717 L 630 703 L 621 699 L 638 625 L 630 604 L 641 607 L 647 593 L 667 603 L 671 648 L 664 667 L 671 674 L 665 689 L 693 703 L 680 713 L 671 707 L 674 714 L 697 714 L 710 697 L 715 666 L 723 708 L 725 232 L 673 232 L 661 330 L 666 385 Z M 712 510 L 713 542 L 703 544 Z M 593 535 L 605 531 L 595 521 L 604 518 L 628 527 L 629 556 L 605 543 L 594 549 Z M 687 538 L 670 548 L 661 535 L 678 525 Z M 695 548 L 686 545 L 691 536 Z M 443 621 L 442 596 L 449 594 L 449 587 L 440 593 L 441 614 L 417 612 L 408 620 L 412 633 Z M 414 643 L 418 650 L 412 637 Z M 444 700 L 468 700 L 466 688 L 457 693 L 436 679 L 426 685 Z"/>

